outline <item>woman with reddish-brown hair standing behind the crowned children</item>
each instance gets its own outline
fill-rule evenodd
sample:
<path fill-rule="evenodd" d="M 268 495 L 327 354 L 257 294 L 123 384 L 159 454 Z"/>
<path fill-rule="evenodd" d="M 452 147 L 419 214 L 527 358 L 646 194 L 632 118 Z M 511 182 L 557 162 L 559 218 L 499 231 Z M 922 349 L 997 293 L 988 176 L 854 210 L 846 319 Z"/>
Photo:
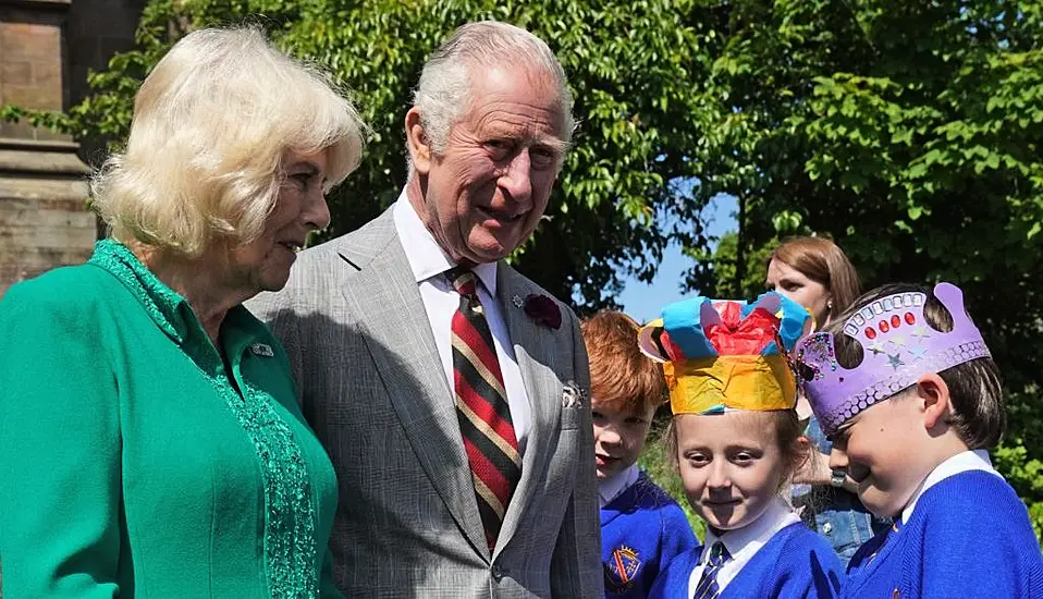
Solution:
<path fill-rule="evenodd" d="M 860 294 L 858 273 L 850 260 L 836 244 L 822 237 L 795 237 L 776 247 L 769 257 L 766 286 L 808 308 L 817 329 L 830 323 Z M 811 459 L 794 477 L 794 503 L 805 508 L 805 519 L 830 540 L 846 565 L 855 551 L 885 525 L 858 500 L 854 481 L 830 469 L 832 443 L 803 398 L 798 401 L 797 412 L 801 419 L 808 419 L 806 435 L 819 451 L 811 452 Z"/>

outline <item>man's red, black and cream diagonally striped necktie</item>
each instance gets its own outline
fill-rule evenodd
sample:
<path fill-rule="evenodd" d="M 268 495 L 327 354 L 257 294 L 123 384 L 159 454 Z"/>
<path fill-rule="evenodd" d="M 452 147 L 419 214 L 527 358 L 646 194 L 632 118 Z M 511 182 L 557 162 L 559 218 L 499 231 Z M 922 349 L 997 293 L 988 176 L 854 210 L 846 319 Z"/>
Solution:
<path fill-rule="evenodd" d="M 459 293 L 459 308 L 453 315 L 452 326 L 456 417 L 491 551 L 522 476 L 522 459 L 496 349 L 478 301 L 475 273 L 456 267 L 446 274 Z"/>

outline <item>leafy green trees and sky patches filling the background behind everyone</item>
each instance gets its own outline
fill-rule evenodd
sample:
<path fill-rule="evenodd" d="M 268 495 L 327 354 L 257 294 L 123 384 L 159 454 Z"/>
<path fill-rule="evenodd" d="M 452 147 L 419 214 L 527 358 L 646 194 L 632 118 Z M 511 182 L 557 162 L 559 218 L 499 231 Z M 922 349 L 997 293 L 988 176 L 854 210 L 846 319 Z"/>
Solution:
<path fill-rule="evenodd" d="M 651 280 L 678 243 L 683 289 L 751 296 L 770 248 L 813 233 L 844 247 L 867 288 L 955 282 L 1006 376 L 1009 430 L 993 456 L 1043 531 L 1040 0 L 151 0 L 136 49 L 90 75 L 94 95 L 0 117 L 118 144 L 134 90 L 179 36 L 259 23 L 333 71 L 372 126 L 331 197 L 330 237 L 395 199 L 410 85 L 449 32 L 480 19 L 545 39 L 577 99 L 551 208 L 512 256 L 523 272 L 590 313 L 615 306 L 624 280 Z M 720 240 L 702 219 L 719 194 L 739 207 L 738 232 Z"/>

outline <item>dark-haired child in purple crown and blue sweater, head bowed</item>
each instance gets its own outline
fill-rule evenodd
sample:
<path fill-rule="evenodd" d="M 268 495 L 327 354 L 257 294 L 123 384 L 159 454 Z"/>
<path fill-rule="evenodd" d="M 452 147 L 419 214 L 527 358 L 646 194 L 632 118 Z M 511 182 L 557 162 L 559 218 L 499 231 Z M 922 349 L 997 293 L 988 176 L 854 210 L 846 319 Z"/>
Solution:
<path fill-rule="evenodd" d="M 793 357 L 830 466 L 895 522 L 851 559 L 843 597 L 1043 598 L 1028 512 L 989 460 L 999 374 L 958 288 L 879 288 Z"/>

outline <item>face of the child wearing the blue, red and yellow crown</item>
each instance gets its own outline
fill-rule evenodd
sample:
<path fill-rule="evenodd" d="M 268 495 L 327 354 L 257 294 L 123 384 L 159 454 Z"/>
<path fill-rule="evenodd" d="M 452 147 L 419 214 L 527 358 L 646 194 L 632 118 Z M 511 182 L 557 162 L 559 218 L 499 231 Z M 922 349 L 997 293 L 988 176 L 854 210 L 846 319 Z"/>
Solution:
<path fill-rule="evenodd" d="M 764 513 L 786 473 L 768 413 L 728 412 L 674 418 L 677 461 L 692 509 L 720 530 Z"/>

